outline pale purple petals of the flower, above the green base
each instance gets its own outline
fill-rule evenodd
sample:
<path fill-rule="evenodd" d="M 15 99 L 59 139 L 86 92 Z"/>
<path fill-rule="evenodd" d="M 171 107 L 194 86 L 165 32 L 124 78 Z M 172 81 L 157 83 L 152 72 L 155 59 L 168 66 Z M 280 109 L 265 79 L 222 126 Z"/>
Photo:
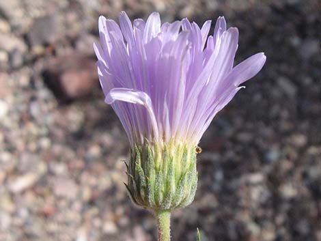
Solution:
<path fill-rule="evenodd" d="M 161 24 L 157 12 L 147 22 L 120 14 L 120 27 L 100 16 L 100 44 L 94 44 L 98 75 L 131 145 L 197 145 L 213 117 L 232 100 L 238 87 L 261 70 L 257 53 L 233 67 L 238 29 L 219 17 L 199 28 L 187 18 Z"/>

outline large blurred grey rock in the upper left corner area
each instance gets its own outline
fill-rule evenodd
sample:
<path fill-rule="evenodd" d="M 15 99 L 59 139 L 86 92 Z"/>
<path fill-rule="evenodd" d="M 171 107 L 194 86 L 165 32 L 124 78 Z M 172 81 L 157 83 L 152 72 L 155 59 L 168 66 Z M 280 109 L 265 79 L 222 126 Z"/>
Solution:
<path fill-rule="evenodd" d="M 37 18 L 27 33 L 29 45 L 36 47 L 55 42 L 57 40 L 57 25 L 55 15 Z"/>

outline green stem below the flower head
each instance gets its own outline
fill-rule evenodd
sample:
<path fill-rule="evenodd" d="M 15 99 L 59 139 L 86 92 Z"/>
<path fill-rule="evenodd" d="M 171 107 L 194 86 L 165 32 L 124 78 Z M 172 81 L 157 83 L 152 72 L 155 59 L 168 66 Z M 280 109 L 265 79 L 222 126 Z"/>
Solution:
<path fill-rule="evenodd" d="M 155 211 L 158 228 L 158 241 L 171 240 L 171 212 L 169 210 Z"/>

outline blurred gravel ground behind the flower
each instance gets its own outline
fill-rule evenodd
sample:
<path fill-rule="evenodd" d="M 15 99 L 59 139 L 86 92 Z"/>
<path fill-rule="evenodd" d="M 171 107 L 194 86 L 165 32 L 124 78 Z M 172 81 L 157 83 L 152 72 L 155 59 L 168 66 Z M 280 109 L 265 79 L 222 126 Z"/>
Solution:
<path fill-rule="evenodd" d="M 161 13 L 240 30 L 236 62 L 267 62 L 202 139 L 192 205 L 173 240 L 321 240 L 318 0 L 0 1 L 0 240 L 149 241 L 155 223 L 123 182 L 128 141 L 104 104 L 98 16 Z M 213 30 L 212 30 L 213 31 Z"/>

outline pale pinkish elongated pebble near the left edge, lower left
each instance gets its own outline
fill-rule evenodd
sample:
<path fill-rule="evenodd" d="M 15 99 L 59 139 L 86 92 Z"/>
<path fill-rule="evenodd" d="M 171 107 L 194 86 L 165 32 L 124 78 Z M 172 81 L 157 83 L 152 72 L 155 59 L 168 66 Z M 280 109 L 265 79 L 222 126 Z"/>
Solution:
<path fill-rule="evenodd" d="M 31 188 L 40 179 L 36 173 L 27 173 L 10 182 L 9 189 L 12 193 L 21 193 L 27 188 Z"/>

